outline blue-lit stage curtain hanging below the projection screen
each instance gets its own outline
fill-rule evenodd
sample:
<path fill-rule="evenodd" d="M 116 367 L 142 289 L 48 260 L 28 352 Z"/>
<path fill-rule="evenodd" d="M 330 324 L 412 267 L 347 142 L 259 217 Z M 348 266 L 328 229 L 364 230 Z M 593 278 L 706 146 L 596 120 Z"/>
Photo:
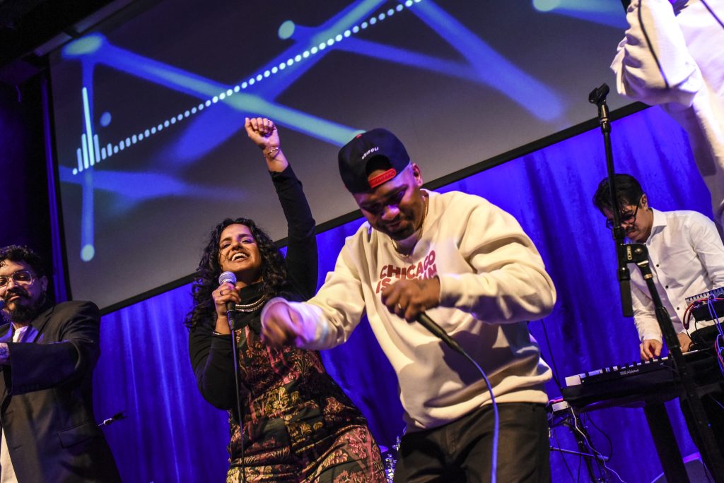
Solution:
<path fill-rule="evenodd" d="M 691 161 L 686 133 L 662 111 L 649 108 L 615 121 L 612 139 L 616 171 L 636 176 L 654 208 L 698 210 L 711 216 L 709 195 Z M 512 213 L 534 240 L 555 281 L 558 302 L 552 315 L 531 322 L 530 328 L 561 382 L 568 375 L 639 359 L 633 320 L 621 316 L 613 240 L 592 205 L 605 174 L 602 136 L 594 129 L 439 190 L 486 197 Z M 311 174 L 300 174 L 305 176 Z M 345 236 L 359 223 L 318 236 L 320 281 L 334 267 Z M 105 429 L 126 481 L 224 479 L 227 415 L 203 401 L 196 388 L 183 325 L 190 308 L 190 286 L 183 286 L 103 318 L 96 412 L 104 418 L 126 411 L 127 419 Z M 368 417 L 379 443 L 392 445 L 403 428 L 397 382 L 366 321 L 348 343 L 322 356 Z M 560 396 L 555 382 L 547 390 L 550 398 Z M 678 403 L 668 406 L 682 453 L 696 451 Z M 608 466 L 624 480 L 651 481 L 660 473 L 641 409 L 605 409 L 589 417 L 594 445 L 603 453 L 613 446 Z M 551 443 L 576 448 L 571 432 L 563 427 L 555 429 Z M 566 456 L 564 461 L 552 453 L 551 462 L 553 481 L 575 480 L 577 472 L 586 480 L 578 458 Z"/>

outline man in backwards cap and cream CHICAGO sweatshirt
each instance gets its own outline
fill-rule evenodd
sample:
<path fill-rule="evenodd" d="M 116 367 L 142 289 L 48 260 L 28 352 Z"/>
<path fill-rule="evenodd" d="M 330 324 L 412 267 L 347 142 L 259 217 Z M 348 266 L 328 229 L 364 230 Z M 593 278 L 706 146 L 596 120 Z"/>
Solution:
<path fill-rule="evenodd" d="M 487 386 L 470 362 L 414 322 L 426 312 L 487 373 L 500 408 L 498 479 L 549 481 L 544 382 L 551 371 L 527 321 L 550 313 L 555 288 L 533 242 L 481 197 L 422 189 L 420 169 L 385 129 L 355 137 L 339 163 L 367 222 L 313 299 L 269 302 L 266 342 L 328 349 L 366 313 L 405 409 L 395 482 L 489 481 Z"/>

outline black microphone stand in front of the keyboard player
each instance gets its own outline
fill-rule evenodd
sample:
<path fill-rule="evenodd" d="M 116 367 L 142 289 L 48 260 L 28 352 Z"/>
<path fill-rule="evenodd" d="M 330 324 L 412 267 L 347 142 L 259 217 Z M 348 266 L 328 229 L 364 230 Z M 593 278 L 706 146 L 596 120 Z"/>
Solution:
<path fill-rule="evenodd" d="M 601 87 L 597 87 L 589 94 L 589 102 L 596 104 L 599 108 L 599 121 L 606 149 L 606 165 L 608 168 L 608 181 L 613 209 L 613 236 L 616 242 L 616 255 L 618 257 L 618 280 L 621 288 L 623 315 L 624 317 L 631 317 L 633 315 L 633 309 L 631 308 L 631 277 L 626 265 L 628 263 L 635 263 L 639 267 L 639 271 L 641 272 L 641 276 L 644 278 L 644 281 L 646 281 L 649 294 L 654 302 L 656 319 L 659 322 L 661 333 L 673 361 L 674 372 L 675 374 L 678 374 L 678 378 L 681 381 L 683 393 L 679 396 L 679 398 L 686 406 L 689 407 L 691 415 L 694 418 L 694 427 L 692 429 L 694 429 L 696 435 L 699 437 L 699 442 L 701 442 L 700 444 L 702 445 L 702 448 L 699 449 L 707 456 L 707 463 L 712 466 L 709 470 L 714 478 L 714 481 L 717 483 L 724 483 L 724 461 L 721 453 L 719 453 L 717 443 L 709 425 L 709 420 L 707 419 L 707 414 L 704 412 L 702 400 L 699 397 L 699 393 L 696 391 L 696 383 L 694 382 L 691 372 L 689 371 L 689 367 L 687 367 L 686 361 L 681 353 L 681 346 L 679 345 L 674 326 L 671 323 L 671 317 L 666 311 L 666 307 L 662 304 L 661 297 L 659 296 L 656 284 L 654 283 L 654 275 L 649 263 L 649 250 L 645 244 L 626 244 L 623 242 L 624 231 L 620 226 L 618 200 L 615 196 L 614 189 L 615 180 L 613 170 L 613 153 L 611 150 L 611 140 L 609 135 L 611 127 L 608 119 L 608 108 L 606 106 L 606 95 L 608 94 L 608 91 L 609 89 L 606 84 L 601 85 Z M 628 291 L 627 296 L 624 296 L 624 287 L 626 287 L 626 290 Z M 686 474 L 681 476 L 685 477 L 686 481 L 689 481 Z"/>

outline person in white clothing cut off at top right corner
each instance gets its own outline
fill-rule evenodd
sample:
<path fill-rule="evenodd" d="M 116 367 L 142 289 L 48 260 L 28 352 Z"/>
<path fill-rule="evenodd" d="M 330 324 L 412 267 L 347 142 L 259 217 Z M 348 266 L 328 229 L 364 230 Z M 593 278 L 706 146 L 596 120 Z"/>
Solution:
<path fill-rule="evenodd" d="M 686 129 L 724 225 L 724 0 L 632 0 L 626 20 L 611 64 L 618 93 Z"/>

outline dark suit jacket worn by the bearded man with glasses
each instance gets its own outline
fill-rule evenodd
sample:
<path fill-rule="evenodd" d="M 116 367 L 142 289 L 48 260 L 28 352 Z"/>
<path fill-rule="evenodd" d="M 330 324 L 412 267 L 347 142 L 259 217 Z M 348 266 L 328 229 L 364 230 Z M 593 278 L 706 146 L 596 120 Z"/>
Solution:
<path fill-rule="evenodd" d="M 18 482 L 119 482 L 93 415 L 93 368 L 101 315 L 92 302 L 64 302 L 33 320 L 32 342 L 12 342 L 0 365 L 0 424 Z M 30 330 L 30 328 L 28 329 Z"/>

